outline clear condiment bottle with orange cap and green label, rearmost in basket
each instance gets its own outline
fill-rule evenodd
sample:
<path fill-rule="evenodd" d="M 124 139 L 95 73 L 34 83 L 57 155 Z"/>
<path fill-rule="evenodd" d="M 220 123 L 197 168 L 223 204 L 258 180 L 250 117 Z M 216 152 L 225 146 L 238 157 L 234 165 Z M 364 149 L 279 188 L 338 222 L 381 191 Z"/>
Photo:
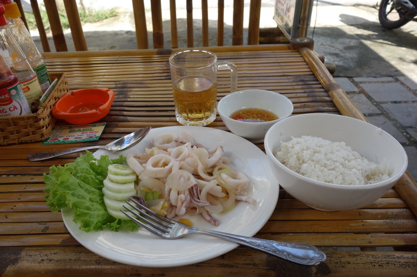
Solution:
<path fill-rule="evenodd" d="M 16 40 L 23 54 L 26 56 L 30 67 L 36 72 L 42 91 L 45 92 L 51 85 L 51 80 L 46 69 L 45 61 L 42 59 L 33 38 L 20 18 L 21 14 L 17 4 L 11 0 L 0 0 L 5 7 L 5 17 L 13 38 Z"/>

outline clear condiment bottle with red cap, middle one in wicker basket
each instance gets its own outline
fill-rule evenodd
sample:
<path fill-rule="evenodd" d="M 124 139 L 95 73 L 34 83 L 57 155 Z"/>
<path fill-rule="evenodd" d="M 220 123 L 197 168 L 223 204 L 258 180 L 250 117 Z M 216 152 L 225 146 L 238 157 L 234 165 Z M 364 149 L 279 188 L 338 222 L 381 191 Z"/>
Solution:
<path fill-rule="evenodd" d="M 35 111 L 39 106 L 39 99 L 42 97 L 43 91 L 38 76 L 10 34 L 4 12 L 5 8 L 0 5 L 0 53 L 13 73 L 16 74 L 30 109 Z"/>

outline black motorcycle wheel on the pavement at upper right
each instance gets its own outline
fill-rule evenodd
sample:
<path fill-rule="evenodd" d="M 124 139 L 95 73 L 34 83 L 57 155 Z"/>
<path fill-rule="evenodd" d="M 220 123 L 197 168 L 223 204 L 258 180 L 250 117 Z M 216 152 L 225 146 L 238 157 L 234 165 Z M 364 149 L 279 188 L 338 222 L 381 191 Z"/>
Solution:
<path fill-rule="evenodd" d="M 381 0 L 378 10 L 379 23 L 387 29 L 404 26 L 410 20 L 405 18 L 407 11 L 395 5 L 393 0 Z"/>

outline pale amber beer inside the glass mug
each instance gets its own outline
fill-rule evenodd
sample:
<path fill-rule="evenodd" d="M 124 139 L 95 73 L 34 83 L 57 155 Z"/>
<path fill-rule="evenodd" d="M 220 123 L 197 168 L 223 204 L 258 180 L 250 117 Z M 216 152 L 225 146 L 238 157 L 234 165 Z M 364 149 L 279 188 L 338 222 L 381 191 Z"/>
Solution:
<path fill-rule="evenodd" d="M 189 125 L 210 123 L 216 116 L 217 87 L 204 76 L 185 76 L 173 87 L 175 110 Z"/>

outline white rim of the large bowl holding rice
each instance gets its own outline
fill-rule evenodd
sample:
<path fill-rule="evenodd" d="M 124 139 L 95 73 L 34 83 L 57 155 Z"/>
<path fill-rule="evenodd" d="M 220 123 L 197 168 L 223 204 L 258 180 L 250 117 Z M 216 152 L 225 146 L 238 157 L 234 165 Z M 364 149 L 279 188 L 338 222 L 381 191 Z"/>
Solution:
<path fill-rule="evenodd" d="M 282 122 L 285 122 L 285 121 L 287 121 L 287 120 L 292 120 L 292 118 L 293 117 L 295 117 L 295 116 L 315 116 L 315 115 L 319 115 L 319 114 L 327 114 L 327 115 L 332 115 L 332 116 L 343 116 L 343 117 L 346 117 L 346 116 L 344 116 L 344 115 L 338 115 L 338 114 L 331 114 L 331 113 L 311 113 L 311 114 L 298 114 L 298 115 L 293 115 L 293 116 L 291 116 L 291 117 L 287 117 L 287 118 L 284 118 L 283 120 L 281 120 L 279 123 L 277 123 L 277 124 L 280 124 L 280 123 L 282 123 Z M 349 117 L 351 120 L 355 120 L 355 121 L 357 121 L 359 124 L 364 124 L 364 125 L 371 125 L 370 123 L 367 123 L 367 122 L 365 122 L 365 121 L 362 121 L 362 120 L 358 120 L 357 118 L 353 118 L 353 117 Z M 373 125 L 372 125 L 373 126 Z M 375 127 L 375 126 L 373 126 L 373 127 Z M 378 127 L 375 127 L 375 128 L 378 128 Z M 265 142 L 266 141 L 268 141 L 267 140 L 267 138 L 268 138 L 268 136 L 270 135 L 270 133 L 271 133 L 271 130 L 272 129 L 270 129 L 270 130 L 268 130 L 268 132 L 267 132 L 267 134 L 265 135 Z M 394 140 L 394 143 L 395 144 L 397 144 L 397 145 L 399 145 L 399 146 L 401 146 L 401 144 L 395 139 L 395 138 L 393 138 L 390 134 L 388 134 L 386 131 L 383 131 L 383 130 L 381 130 L 383 133 L 386 133 L 387 135 L 389 135 L 390 137 L 391 137 L 391 139 L 392 140 Z M 400 149 L 401 149 L 401 151 L 402 151 L 402 154 L 403 154 L 403 156 L 405 157 L 405 161 L 404 161 L 404 164 L 403 164 L 403 166 L 401 167 L 401 169 L 395 174 L 395 175 L 393 175 L 393 176 L 391 176 L 390 178 L 388 178 L 387 180 L 384 180 L 384 181 L 380 181 L 380 182 L 377 182 L 377 183 L 373 183 L 373 184 L 365 184 L 365 185 L 343 185 L 343 184 L 332 184 L 332 183 L 326 183 L 326 182 L 322 182 L 322 181 L 318 181 L 318 180 L 314 180 L 314 179 L 311 179 L 311 178 L 308 178 L 308 177 L 306 177 L 306 176 L 304 176 L 304 175 L 301 175 L 301 174 L 299 174 L 299 173 L 297 173 L 297 172 L 295 172 L 295 171 L 292 171 L 291 169 L 289 169 L 289 168 L 287 168 L 286 166 L 284 166 L 282 163 L 280 163 L 279 161 L 278 161 L 278 159 L 271 159 L 271 160 L 273 160 L 273 162 L 274 163 L 276 163 L 276 164 L 279 164 L 279 165 L 281 165 L 282 166 L 282 169 L 284 170 L 284 171 L 286 171 L 286 172 L 288 172 L 288 173 L 290 173 L 291 175 L 294 175 L 294 176 L 296 176 L 296 177 L 298 177 L 298 178 L 300 178 L 300 179 L 302 179 L 302 180 L 304 180 L 304 181 L 307 181 L 307 182 L 313 182 L 313 183 L 315 183 L 315 184 L 317 184 L 318 186 L 323 186 L 323 187 L 330 187 L 330 188 L 334 188 L 334 187 L 338 187 L 338 188 L 343 188 L 343 189 L 346 189 L 346 190 L 359 190 L 359 189 L 370 189 L 370 188 L 375 188 L 375 187 L 381 187 L 381 186 L 385 186 L 385 185 L 387 185 L 387 183 L 389 183 L 389 182 L 392 182 L 393 180 L 396 180 L 396 179 L 399 179 L 403 174 L 404 174 L 404 172 L 405 172 L 405 170 L 406 170 L 406 168 L 407 168 L 407 164 L 408 164 L 408 157 L 407 157 L 407 154 L 405 153 L 405 150 L 404 150 L 404 148 L 401 146 L 400 147 Z M 275 155 L 272 153 L 272 150 L 270 149 L 270 147 L 269 146 L 267 146 L 267 145 L 265 145 L 265 150 L 272 156 L 272 157 L 275 157 Z"/>

